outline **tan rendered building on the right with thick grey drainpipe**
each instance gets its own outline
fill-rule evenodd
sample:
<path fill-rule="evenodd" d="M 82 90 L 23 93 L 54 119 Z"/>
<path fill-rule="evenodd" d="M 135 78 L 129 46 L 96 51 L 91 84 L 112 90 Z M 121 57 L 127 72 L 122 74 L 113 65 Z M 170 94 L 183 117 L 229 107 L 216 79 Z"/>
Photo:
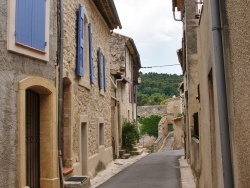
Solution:
<path fill-rule="evenodd" d="M 173 8 L 177 4 L 175 1 Z M 192 74 L 198 82 L 195 88 L 187 87 L 196 92 L 199 103 L 194 116 L 199 145 L 187 145 L 193 151 L 190 163 L 197 164 L 192 166 L 197 184 L 201 188 L 249 187 L 250 21 L 245 18 L 250 16 L 250 4 L 246 0 L 201 0 L 196 5 L 193 1 L 179 5 L 184 23 L 186 15 L 196 18 L 192 37 L 185 37 L 193 40 L 196 36 L 197 40 L 198 71 Z M 184 60 L 192 56 L 185 46 L 182 52 Z M 181 64 L 188 67 L 188 61 Z"/>

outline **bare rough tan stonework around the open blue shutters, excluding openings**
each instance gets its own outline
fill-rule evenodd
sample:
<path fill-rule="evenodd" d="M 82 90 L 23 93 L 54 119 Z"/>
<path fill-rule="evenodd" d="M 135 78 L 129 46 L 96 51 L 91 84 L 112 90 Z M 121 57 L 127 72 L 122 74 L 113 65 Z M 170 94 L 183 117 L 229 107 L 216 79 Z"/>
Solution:
<path fill-rule="evenodd" d="M 84 7 L 84 13 L 89 23 L 92 24 L 93 33 L 93 62 L 94 62 L 94 84 L 82 84 L 82 79 L 76 76 L 76 56 L 77 56 L 77 10 L 79 3 Z M 88 175 L 95 174 L 93 170 L 98 170 L 98 164 L 104 160 L 113 158 L 112 152 L 106 150 L 112 146 L 111 143 L 111 81 L 110 75 L 110 56 L 109 56 L 109 37 L 110 30 L 103 17 L 90 0 L 64 1 L 64 69 L 73 78 L 73 108 L 72 108 L 72 163 L 77 166 L 80 162 L 81 153 L 81 131 L 80 116 L 87 116 L 87 163 Z M 98 61 L 97 50 L 101 48 L 106 57 L 106 82 L 107 91 L 100 91 L 98 87 Z M 100 122 L 100 119 L 102 121 Z M 104 143 L 99 145 L 99 123 L 104 124 Z M 104 147 L 104 153 L 100 153 L 100 147 Z M 106 149 L 105 149 L 106 148 Z M 111 150 L 112 151 L 112 150 Z M 98 160 L 91 160 L 91 156 L 97 155 Z M 91 162 L 92 161 L 92 162 Z M 94 161 L 94 162 L 93 162 Z M 79 164 L 83 165 L 83 164 Z M 77 169 L 78 167 L 76 167 Z M 76 170 L 77 172 L 77 170 Z M 78 174 L 79 175 L 79 174 Z"/>

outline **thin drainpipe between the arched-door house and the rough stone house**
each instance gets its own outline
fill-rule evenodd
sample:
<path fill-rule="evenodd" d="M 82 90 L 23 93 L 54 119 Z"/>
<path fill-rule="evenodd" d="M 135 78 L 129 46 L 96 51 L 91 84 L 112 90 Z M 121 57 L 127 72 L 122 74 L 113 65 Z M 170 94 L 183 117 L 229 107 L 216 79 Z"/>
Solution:
<path fill-rule="evenodd" d="M 58 160 L 59 160 L 59 176 L 60 187 L 63 188 L 63 165 L 62 165 L 62 118 L 63 118 L 63 0 L 60 0 L 60 48 L 59 48 L 59 93 L 58 93 Z"/>

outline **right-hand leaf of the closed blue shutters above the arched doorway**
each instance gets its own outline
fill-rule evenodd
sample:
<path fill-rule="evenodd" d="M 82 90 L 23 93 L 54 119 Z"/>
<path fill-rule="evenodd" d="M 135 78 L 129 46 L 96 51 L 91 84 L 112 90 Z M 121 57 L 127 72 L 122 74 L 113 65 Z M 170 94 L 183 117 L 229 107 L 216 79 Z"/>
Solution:
<path fill-rule="evenodd" d="M 29 1 L 31 2 L 31 1 Z M 32 47 L 45 50 L 45 9 L 46 0 L 33 0 L 32 10 Z"/>

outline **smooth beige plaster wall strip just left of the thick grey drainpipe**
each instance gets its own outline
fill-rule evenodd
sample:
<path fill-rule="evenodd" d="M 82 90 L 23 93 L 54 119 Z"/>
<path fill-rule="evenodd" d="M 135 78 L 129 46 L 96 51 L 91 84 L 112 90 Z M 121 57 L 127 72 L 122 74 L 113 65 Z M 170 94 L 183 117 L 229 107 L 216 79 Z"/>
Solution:
<path fill-rule="evenodd" d="M 214 77 L 214 54 L 209 1 L 204 2 L 198 27 L 198 59 L 200 81 L 199 109 L 199 150 L 200 187 L 223 187 L 223 171 L 216 97 L 216 78 Z M 209 74 L 212 77 L 209 78 Z M 213 80 L 210 88 L 209 80 Z M 209 88 L 213 97 L 209 95 Z M 211 104 L 213 103 L 213 106 Z"/>

